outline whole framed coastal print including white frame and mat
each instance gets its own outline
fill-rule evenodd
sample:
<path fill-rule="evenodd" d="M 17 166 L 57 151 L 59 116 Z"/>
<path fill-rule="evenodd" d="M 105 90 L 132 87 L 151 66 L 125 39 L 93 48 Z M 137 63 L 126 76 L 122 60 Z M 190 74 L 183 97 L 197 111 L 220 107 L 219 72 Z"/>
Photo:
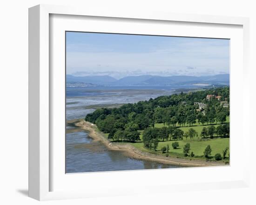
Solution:
<path fill-rule="evenodd" d="M 29 196 L 247 186 L 248 26 L 30 8 Z"/>

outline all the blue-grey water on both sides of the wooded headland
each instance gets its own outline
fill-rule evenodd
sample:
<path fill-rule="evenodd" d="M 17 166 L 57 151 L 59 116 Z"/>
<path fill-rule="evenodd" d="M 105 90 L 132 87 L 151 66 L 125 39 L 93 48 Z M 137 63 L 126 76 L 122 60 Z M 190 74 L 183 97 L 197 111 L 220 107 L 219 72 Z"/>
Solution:
<path fill-rule="evenodd" d="M 139 89 L 140 88 L 140 89 Z M 149 100 L 162 95 L 170 95 L 171 88 L 152 87 L 88 87 L 67 88 L 67 120 L 84 118 L 95 109 L 94 105 L 116 105 L 128 102 Z M 101 142 L 94 142 L 88 133 L 67 127 L 66 134 L 66 173 L 101 172 L 119 170 L 140 170 L 174 168 L 147 160 L 136 160 L 121 151 L 110 151 Z"/>

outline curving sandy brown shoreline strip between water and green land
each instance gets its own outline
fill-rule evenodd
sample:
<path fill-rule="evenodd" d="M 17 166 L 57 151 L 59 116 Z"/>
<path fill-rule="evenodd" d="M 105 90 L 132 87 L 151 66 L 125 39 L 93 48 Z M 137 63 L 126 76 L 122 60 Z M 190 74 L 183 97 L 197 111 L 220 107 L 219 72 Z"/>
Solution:
<path fill-rule="evenodd" d="M 110 142 L 106 139 L 100 131 L 97 130 L 96 125 L 86 122 L 83 119 L 76 119 L 72 121 L 67 121 L 67 123 L 73 124 L 75 127 L 79 127 L 82 130 L 88 132 L 88 135 L 94 139 L 94 141 L 101 141 L 109 150 L 119 150 L 123 151 L 128 157 L 139 159 L 139 160 L 149 160 L 155 161 L 162 164 L 168 165 L 178 165 L 182 167 L 208 167 L 208 166 L 225 166 L 224 163 L 219 163 L 215 161 L 204 161 L 204 160 L 188 160 L 184 158 L 177 157 L 165 157 L 157 154 L 143 152 L 140 149 L 133 147 L 127 143 Z"/>

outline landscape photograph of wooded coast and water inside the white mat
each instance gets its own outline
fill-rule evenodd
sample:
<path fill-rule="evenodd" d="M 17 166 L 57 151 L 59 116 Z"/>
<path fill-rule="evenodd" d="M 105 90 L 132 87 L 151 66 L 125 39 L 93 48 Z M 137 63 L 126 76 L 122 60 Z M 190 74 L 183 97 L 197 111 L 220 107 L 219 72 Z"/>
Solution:
<path fill-rule="evenodd" d="M 230 39 L 65 35 L 66 173 L 229 166 Z"/>

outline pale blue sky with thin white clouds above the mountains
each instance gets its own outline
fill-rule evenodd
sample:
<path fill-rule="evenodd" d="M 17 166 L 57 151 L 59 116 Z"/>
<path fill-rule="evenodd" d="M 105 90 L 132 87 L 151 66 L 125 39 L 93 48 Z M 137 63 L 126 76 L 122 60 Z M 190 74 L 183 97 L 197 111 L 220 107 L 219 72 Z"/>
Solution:
<path fill-rule="evenodd" d="M 66 32 L 74 76 L 210 76 L 229 73 L 229 39 Z"/>

